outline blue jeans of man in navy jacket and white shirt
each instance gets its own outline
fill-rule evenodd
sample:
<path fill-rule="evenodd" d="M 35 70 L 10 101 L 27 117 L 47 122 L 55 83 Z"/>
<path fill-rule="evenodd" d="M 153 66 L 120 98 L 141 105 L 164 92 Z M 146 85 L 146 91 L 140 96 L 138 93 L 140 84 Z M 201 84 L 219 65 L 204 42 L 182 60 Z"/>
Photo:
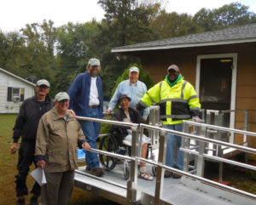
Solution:
<path fill-rule="evenodd" d="M 101 118 L 100 111 L 98 108 L 89 109 L 88 117 Z M 100 122 L 90 122 L 79 120 L 81 128 L 83 129 L 85 140 L 89 143 L 91 148 L 97 149 L 96 140 L 99 137 L 101 130 Z M 95 152 L 85 151 L 85 162 L 90 169 L 99 168 L 99 159 Z"/>

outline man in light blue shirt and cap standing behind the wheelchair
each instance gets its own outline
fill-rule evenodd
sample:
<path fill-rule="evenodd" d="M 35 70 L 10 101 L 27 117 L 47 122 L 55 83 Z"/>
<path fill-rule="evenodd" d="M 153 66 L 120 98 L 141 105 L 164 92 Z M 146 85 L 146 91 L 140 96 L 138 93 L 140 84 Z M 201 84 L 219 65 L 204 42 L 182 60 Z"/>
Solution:
<path fill-rule="evenodd" d="M 125 80 L 119 83 L 116 88 L 112 99 L 109 102 L 107 113 L 113 111 L 115 105 L 117 104 L 119 97 L 122 94 L 126 94 L 131 98 L 129 107 L 136 109 L 136 105 L 143 98 L 143 95 L 147 92 L 147 87 L 145 83 L 138 81 L 139 69 L 136 66 L 133 66 L 129 70 L 129 80 Z M 147 120 L 149 114 L 149 107 L 139 112 L 140 116 L 144 121 Z"/>

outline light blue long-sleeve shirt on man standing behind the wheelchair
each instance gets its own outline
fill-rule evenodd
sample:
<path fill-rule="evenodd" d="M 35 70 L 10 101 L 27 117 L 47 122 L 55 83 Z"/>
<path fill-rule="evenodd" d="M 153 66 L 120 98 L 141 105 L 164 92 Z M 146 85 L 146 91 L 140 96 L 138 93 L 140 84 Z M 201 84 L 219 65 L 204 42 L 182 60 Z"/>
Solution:
<path fill-rule="evenodd" d="M 108 104 L 108 109 L 113 111 L 114 106 L 117 104 L 119 100 L 119 96 L 121 94 L 126 94 L 128 97 L 131 98 L 130 107 L 136 109 L 136 105 L 143 98 L 143 95 L 147 92 L 147 86 L 145 83 L 141 81 L 137 81 L 137 83 L 130 83 L 130 80 L 125 80 L 119 83 L 118 87 L 116 88 L 112 99 Z M 143 119 L 146 119 L 149 114 L 149 107 L 144 109 L 143 111 Z"/>

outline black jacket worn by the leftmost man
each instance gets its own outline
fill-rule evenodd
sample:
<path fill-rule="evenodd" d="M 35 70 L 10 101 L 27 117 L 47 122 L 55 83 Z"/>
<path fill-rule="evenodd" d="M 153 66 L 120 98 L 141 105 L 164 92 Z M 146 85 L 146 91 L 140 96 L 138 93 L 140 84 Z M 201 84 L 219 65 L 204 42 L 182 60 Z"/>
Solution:
<path fill-rule="evenodd" d="M 38 123 L 45 112 L 54 106 L 54 102 L 46 96 L 43 102 L 38 101 L 37 94 L 26 99 L 20 106 L 20 112 L 16 118 L 13 139 L 18 142 L 21 136 L 22 141 L 35 142 L 38 131 Z"/>

